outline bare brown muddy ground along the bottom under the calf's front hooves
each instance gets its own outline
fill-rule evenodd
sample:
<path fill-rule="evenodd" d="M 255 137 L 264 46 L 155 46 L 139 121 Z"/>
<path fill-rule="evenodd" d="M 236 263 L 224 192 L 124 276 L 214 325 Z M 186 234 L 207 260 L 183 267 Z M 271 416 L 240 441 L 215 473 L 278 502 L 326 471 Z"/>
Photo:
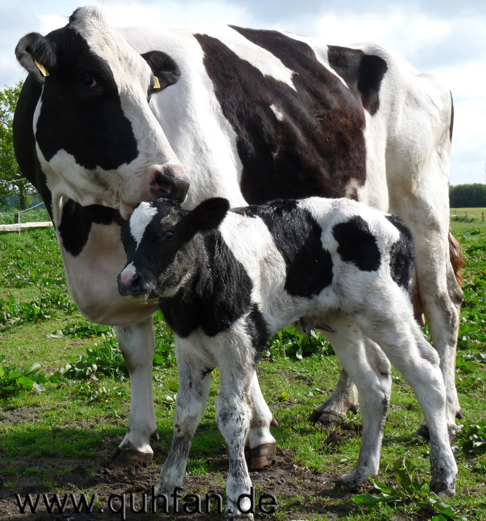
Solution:
<path fill-rule="evenodd" d="M 155 456 L 156 461 L 163 461 L 165 454 L 156 453 Z M 271 519 L 272 517 L 258 512 L 258 500 L 263 493 L 278 495 L 280 498 L 286 499 L 286 505 L 280 505 L 284 506 L 285 512 L 276 514 L 278 519 L 299 519 L 299 513 L 325 514 L 326 519 L 338 519 L 345 517 L 353 510 L 353 507 L 349 504 L 350 494 L 334 488 L 339 478 L 338 474 L 332 472 L 312 473 L 306 467 L 301 467 L 298 464 L 289 464 L 288 462 L 294 459 L 292 456 L 290 451 L 277 450 L 270 467 L 259 472 L 250 473 L 253 486 L 256 489 L 256 519 Z M 146 468 L 136 466 L 128 469 L 108 470 L 104 467 L 108 454 L 102 454 L 102 459 L 101 465 L 100 459 L 56 458 L 52 456 L 45 460 L 42 458 L 35 458 L 35 460 L 23 458 L 16 462 L 11 462 L 8 473 L 0 476 L 0 519 L 2 521 L 20 521 L 26 518 L 33 521 L 122 519 L 121 502 L 119 499 L 121 494 L 126 494 L 127 520 L 143 521 L 144 518 L 153 518 L 150 513 L 143 513 L 142 499 L 143 494 L 147 494 L 148 512 L 150 512 L 152 486 L 157 483 L 160 465 L 149 465 Z M 202 500 L 203 512 L 205 511 L 206 492 L 221 494 L 224 507 L 224 490 L 228 466 L 227 455 L 224 451 L 214 454 L 208 460 L 208 466 L 212 469 L 212 472 L 204 474 L 188 473 L 184 479 L 184 489 L 180 492 L 183 496 L 186 494 L 198 494 Z M 18 478 L 15 478 L 15 476 Z M 81 494 L 85 492 L 88 492 L 89 500 L 91 499 L 91 492 L 96 494 L 92 512 L 76 513 L 72 508 L 69 495 L 73 494 L 75 500 L 79 503 Z M 42 497 L 42 494 L 46 494 L 48 502 L 52 502 L 55 493 L 58 494 L 61 502 L 66 494 L 68 496 L 66 509 L 62 514 L 58 512 L 57 508 L 54 508 L 52 513 L 48 512 Z M 19 510 L 16 494 L 19 494 L 21 505 L 25 504 L 27 494 L 30 494 L 33 503 L 35 503 L 39 495 L 37 513 L 32 513 L 30 506 L 26 504 L 25 513 L 22 514 Z M 118 494 L 118 497 L 115 497 L 114 494 Z M 141 510 L 141 512 L 135 513 L 130 511 L 130 494 L 133 494 L 133 507 L 137 511 Z M 120 512 L 109 512 L 108 501 L 110 501 L 110 498 L 112 511 L 120 510 Z M 209 521 L 210 519 L 217 520 L 224 517 L 214 511 L 217 508 L 215 503 L 212 504 L 212 512 L 210 514 L 184 513 L 184 505 L 191 501 L 194 501 L 194 499 L 180 500 L 180 514 L 178 515 L 165 515 L 159 510 L 157 519 L 163 521 L 168 519 Z M 192 508 L 192 506 L 188 506 L 188 508 Z"/>

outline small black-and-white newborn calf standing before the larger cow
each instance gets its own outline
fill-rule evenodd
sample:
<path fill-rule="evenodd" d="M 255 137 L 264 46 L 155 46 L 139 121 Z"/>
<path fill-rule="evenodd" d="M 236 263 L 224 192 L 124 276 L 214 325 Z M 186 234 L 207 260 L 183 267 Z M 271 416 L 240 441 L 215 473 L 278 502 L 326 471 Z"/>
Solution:
<path fill-rule="evenodd" d="M 296 323 L 321 330 L 359 391 L 363 439 L 344 484 L 378 473 L 391 362 L 414 389 L 430 429 L 431 489 L 454 494 L 444 381 L 439 356 L 414 319 L 414 244 L 399 218 L 348 199 L 229 210 L 227 200 L 215 198 L 191 212 L 160 199 L 138 206 L 121 239 L 128 261 L 119 292 L 159 298 L 176 333 L 174 438 L 158 493 L 182 483 L 218 367 L 216 419 L 229 452 L 228 508 L 236 512 L 251 486 L 244 449 L 254 368 L 269 336 Z"/>

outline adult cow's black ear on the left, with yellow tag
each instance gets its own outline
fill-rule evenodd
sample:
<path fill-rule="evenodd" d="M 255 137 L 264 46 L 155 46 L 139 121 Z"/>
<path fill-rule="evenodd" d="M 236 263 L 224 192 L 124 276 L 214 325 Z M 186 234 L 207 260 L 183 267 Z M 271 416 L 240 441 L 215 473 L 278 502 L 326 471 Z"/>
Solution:
<path fill-rule="evenodd" d="M 15 56 L 20 65 L 39 83 L 50 76 L 56 62 L 56 54 L 50 41 L 42 34 L 29 33 L 19 40 Z"/>

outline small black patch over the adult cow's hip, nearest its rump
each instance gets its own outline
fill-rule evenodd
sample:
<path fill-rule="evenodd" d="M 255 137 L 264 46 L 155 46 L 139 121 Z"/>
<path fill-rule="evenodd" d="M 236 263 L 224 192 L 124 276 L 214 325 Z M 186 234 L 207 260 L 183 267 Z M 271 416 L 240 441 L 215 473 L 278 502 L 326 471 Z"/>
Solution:
<path fill-rule="evenodd" d="M 363 107 L 373 115 L 380 107 L 380 86 L 388 66 L 380 56 L 365 54 L 361 49 L 327 46 L 329 65 L 361 96 Z"/>

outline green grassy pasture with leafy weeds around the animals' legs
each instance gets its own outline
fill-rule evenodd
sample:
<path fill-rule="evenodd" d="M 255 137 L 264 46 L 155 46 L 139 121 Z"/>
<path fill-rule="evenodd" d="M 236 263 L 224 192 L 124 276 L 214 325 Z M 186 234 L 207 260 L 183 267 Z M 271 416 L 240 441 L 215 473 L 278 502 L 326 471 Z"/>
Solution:
<path fill-rule="evenodd" d="M 477 208 L 470 210 L 478 213 Z M 1 223 L 8 218 L 0 215 Z M 257 519 L 486 521 L 486 228 L 481 218 L 453 218 L 451 226 L 466 257 L 456 378 L 464 418 L 458 421 L 453 445 L 459 467 L 456 497 L 441 502 L 429 491 L 429 446 L 414 438 L 420 409 L 395 372 L 377 480 L 355 494 L 341 489 L 332 494 L 315 490 L 277 494 L 277 512 L 257 514 Z M 91 324 L 77 311 L 67 292 L 52 228 L 0 233 L 0 273 L 0 488 L 18 488 L 25 494 L 29 490 L 21 484 L 28 476 L 37 483 L 36 490 L 80 492 L 75 482 L 66 486 L 66 475 L 83 458 L 93 462 L 96 472 L 126 430 L 130 382 L 114 331 Z M 154 394 L 161 439 L 154 442 L 153 465 L 160 467 L 171 443 L 177 371 L 173 337 L 161 317 L 156 318 L 155 329 Z M 273 338 L 263 354 L 260 383 L 279 424 L 272 428 L 279 448 L 275 465 L 289 469 L 287 476 L 295 480 L 296 491 L 305 476 L 319 473 L 329 477 L 331 485 L 323 484 L 323 491 L 329 491 L 336 477 L 357 461 L 359 413 L 349 413 L 334 426 L 316 427 L 308 420 L 313 407 L 334 389 L 339 371 L 329 345 L 318 336 L 303 338 L 291 329 Z M 218 386 L 214 376 L 187 473 L 211 474 L 224 490 L 224 465 L 214 462 L 215 454 L 226 457 L 214 418 Z M 69 465 L 46 467 L 54 455 L 65 457 Z M 131 479 L 136 479 L 136 471 Z M 271 492 L 271 477 L 263 485 L 258 473 L 252 479 L 257 493 L 262 487 Z M 287 489 L 291 487 L 289 483 Z M 0 519 L 9 518 L 2 512 L 5 497 L 6 492 L 0 491 Z"/>

